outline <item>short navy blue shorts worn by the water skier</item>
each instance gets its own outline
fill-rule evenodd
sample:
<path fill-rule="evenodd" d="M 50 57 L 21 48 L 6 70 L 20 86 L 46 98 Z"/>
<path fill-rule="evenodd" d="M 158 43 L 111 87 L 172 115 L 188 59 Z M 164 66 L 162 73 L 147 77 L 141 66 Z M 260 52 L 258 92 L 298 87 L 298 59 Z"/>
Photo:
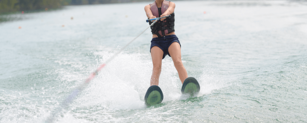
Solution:
<path fill-rule="evenodd" d="M 169 55 L 169 46 L 171 46 L 171 44 L 173 42 L 178 42 L 180 47 L 181 47 L 181 44 L 180 44 L 177 36 L 174 35 L 174 34 L 153 38 L 151 40 L 150 50 L 153 46 L 159 47 L 163 51 L 163 57 L 162 57 L 162 59 L 163 59 L 163 58 L 165 58 L 166 55 Z M 171 56 L 169 55 L 169 57 L 171 57 Z"/>

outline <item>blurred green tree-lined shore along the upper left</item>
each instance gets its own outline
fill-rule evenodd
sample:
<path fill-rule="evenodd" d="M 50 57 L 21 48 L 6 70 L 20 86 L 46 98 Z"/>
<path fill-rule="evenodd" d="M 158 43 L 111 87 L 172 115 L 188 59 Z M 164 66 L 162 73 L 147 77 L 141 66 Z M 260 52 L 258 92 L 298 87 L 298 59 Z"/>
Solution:
<path fill-rule="evenodd" d="M 140 1 L 140 0 L 134 0 Z M 67 5 L 130 2 L 130 0 L 0 0 L 0 14 L 25 10 L 45 10 Z"/>

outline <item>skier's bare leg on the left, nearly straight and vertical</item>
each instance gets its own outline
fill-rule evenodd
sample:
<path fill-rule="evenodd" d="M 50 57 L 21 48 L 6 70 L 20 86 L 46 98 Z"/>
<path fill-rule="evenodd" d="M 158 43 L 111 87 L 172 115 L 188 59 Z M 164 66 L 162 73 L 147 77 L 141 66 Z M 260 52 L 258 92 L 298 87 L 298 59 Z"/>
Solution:
<path fill-rule="evenodd" d="M 159 77 L 161 73 L 163 51 L 159 47 L 153 46 L 150 49 L 150 54 L 151 54 L 151 59 L 153 60 L 153 73 L 150 79 L 150 86 L 159 85 Z"/>

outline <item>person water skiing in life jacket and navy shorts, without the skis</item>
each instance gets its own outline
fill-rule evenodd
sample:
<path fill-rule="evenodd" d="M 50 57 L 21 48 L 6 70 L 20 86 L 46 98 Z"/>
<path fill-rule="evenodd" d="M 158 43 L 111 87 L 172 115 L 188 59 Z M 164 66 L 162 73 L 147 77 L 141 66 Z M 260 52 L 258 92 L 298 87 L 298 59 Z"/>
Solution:
<path fill-rule="evenodd" d="M 145 12 L 149 19 L 171 15 L 171 18 L 161 18 L 151 27 L 153 34 L 150 54 L 153 62 L 153 72 L 150 79 L 151 85 L 159 85 L 162 59 L 169 55 L 177 69 L 181 83 L 188 77 L 187 71 L 181 62 L 181 45 L 174 30 L 174 9 L 175 3 L 156 0 L 145 6 Z M 150 22 L 151 23 L 151 22 Z"/>

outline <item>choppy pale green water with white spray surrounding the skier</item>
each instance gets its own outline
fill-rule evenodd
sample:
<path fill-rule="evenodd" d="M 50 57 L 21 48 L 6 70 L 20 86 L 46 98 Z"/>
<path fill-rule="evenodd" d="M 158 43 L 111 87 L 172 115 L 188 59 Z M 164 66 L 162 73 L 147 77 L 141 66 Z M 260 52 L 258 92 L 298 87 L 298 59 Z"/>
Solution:
<path fill-rule="evenodd" d="M 307 122 L 306 2 L 173 2 L 182 61 L 200 83 L 197 97 L 181 97 L 177 71 L 166 57 L 159 83 L 164 100 L 145 107 L 152 69 L 148 29 L 56 122 Z M 10 15 L 25 19 L 0 23 L 0 122 L 44 122 L 149 26 L 149 3 Z"/>

